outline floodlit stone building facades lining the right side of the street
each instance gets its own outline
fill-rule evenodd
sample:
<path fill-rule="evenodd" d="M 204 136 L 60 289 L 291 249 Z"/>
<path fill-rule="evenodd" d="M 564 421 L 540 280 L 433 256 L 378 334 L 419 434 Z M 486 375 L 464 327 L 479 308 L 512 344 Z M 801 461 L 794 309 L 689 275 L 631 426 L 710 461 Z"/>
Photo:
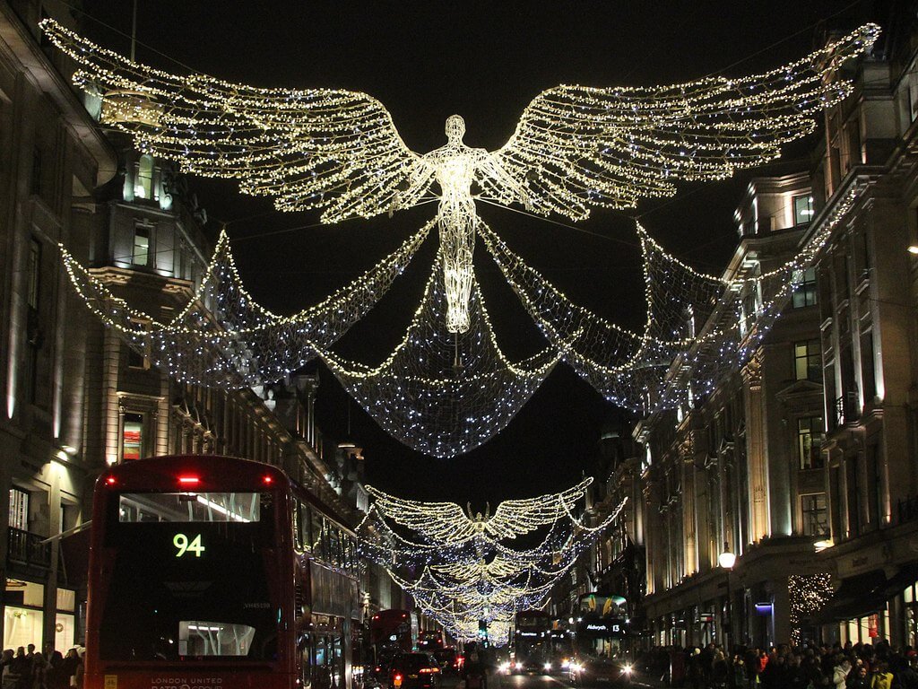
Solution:
<path fill-rule="evenodd" d="M 724 277 L 834 228 L 778 321 L 710 394 L 635 427 L 647 643 L 918 642 L 916 28 L 893 13 L 810 169 L 754 179 L 737 210 Z M 744 295 L 748 332 L 772 297 Z"/>

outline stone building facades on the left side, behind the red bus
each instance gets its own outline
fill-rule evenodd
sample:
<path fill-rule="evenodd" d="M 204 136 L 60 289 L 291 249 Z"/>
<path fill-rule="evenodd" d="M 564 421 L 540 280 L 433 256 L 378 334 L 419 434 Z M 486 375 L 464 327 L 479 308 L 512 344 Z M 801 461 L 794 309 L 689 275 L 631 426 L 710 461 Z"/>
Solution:
<path fill-rule="evenodd" d="M 367 507 L 360 448 L 316 425 L 315 375 L 221 391 L 176 382 L 95 319 L 58 244 L 138 311 L 169 321 L 192 299 L 210 245 L 206 214 L 168 164 L 97 124 L 46 47 L 50 13 L 0 0 L 0 563 L 4 648 L 82 641 L 95 477 L 171 453 L 248 457 L 284 468 L 353 527 Z M 8 153 L 7 153 L 8 152 Z M 362 570 L 356 616 L 409 606 L 385 570 Z M 359 637 L 364 619 L 350 627 Z"/>

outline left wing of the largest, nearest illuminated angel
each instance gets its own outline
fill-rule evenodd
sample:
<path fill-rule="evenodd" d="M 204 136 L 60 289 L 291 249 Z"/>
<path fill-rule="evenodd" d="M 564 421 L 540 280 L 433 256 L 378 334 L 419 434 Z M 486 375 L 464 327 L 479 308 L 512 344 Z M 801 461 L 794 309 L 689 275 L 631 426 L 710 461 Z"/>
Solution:
<path fill-rule="evenodd" d="M 53 20 L 41 28 L 77 63 L 74 84 L 102 97 L 103 120 L 186 173 L 237 178 L 243 192 L 274 197 L 278 209 L 323 209 L 325 222 L 407 208 L 431 184 L 431 170 L 371 96 L 177 76 Z"/>

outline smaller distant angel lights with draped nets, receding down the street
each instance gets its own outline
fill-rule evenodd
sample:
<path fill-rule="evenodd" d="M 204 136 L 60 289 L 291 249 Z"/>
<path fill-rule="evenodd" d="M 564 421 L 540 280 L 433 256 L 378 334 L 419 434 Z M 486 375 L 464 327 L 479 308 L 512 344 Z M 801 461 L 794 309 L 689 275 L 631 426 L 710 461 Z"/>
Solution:
<path fill-rule="evenodd" d="M 368 487 L 373 503 L 357 527 L 361 554 L 385 567 L 453 638 L 476 638 L 484 621 L 488 639 L 506 643 L 514 615 L 542 607 L 559 579 L 621 513 L 625 501 L 596 525 L 577 516 L 577 503 L 591 482 L 504 501 L 494 514 Z M 521 545 L 533 535 L 541 537 L 538 545 Z"/>

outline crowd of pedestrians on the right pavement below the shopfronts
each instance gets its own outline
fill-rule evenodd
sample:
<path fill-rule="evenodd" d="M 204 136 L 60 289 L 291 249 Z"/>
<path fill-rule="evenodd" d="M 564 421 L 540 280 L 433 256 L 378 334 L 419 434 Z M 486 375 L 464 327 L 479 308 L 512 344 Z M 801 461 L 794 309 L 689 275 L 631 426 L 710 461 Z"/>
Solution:
<path fill-rule="evenodd" d="M 646 672 L 686 689 L 918 689 L 918 652 L 889 642 L 740 648 L 657 647 Z"/>

